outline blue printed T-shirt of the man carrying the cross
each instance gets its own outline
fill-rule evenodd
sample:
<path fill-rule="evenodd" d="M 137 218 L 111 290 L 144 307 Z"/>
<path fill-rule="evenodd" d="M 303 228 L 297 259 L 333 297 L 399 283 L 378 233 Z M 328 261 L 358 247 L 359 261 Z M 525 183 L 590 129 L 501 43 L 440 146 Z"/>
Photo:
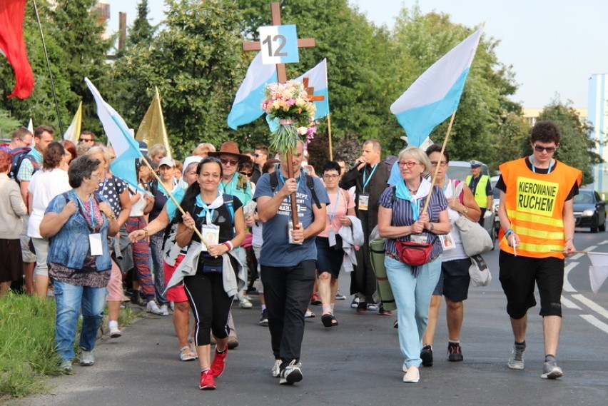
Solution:
<path fill-rule="evenodd" d="M 306 228 L 315 220 L 313 214 L 315 202 L 313 201 L 313 193 L 306 184 L 305 176 L 300 175 L 300 178 L 296 181 L 298 182 L 298 191 L 295 194 L 295 201 L 298 203 L 298 221 Z M 314 177 L 313 182 L 319 203 L 328 204 L 330 200 L 323 183 Z M 280 191 L 280 188 L 283 188 L 283 181 L 280 179 L 280 176 L 278 177 L 278 185 L 273 191 L 270 187 L 270 175 L 265 173 L 258 179 L 258 183 L 255 185 L 253 200 L 256 200 L 260 196 L 273 197 Z M 288 223 L 290 220 L 290 201 L 289 197 L 286 197 L 280 203 L 278 212 L 274 217 L 270 218 L 263 225 L 262 235 L 264 242 L 259 260 L 261 265 L 276 267 L 295 266 L 303 260 L 317 259 L 317 247 L 314 237 L 307 238 L 302 245 L 289 243 Z"/>

